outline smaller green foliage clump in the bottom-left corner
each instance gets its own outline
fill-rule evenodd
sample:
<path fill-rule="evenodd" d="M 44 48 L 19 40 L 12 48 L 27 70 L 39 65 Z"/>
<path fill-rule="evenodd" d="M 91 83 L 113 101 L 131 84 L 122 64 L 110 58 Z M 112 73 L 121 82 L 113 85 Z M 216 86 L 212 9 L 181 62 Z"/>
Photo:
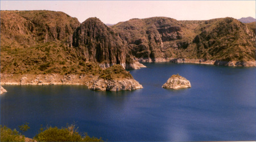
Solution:
<path fill-rule="evenodd" d="M 1 141 L 24 141 L 25 137 L 18 131 L 1 126 Z"/>

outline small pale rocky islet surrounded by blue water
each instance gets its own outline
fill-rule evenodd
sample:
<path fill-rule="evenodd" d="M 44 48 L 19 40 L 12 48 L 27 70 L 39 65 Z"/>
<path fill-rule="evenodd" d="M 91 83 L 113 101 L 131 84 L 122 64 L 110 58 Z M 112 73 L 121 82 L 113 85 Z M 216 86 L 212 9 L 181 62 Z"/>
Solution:
<path fill-rule="evenodd" d="M 177 74 L 172 75 L 162 87 L 167 89 L 182 89 L 191 88 L 191 84 L 187 79 Z"/>

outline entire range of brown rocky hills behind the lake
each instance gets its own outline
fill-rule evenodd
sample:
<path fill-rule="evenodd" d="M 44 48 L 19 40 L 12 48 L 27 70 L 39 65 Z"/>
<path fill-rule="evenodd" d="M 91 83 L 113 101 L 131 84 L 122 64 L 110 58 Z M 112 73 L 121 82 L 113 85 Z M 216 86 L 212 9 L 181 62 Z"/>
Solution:
<path fill-rule="evenodd" d="M 1 11 L 1 73 L 100 74 L 85 64 L 138 69 L 138 61 L 255 66 L 253 24 L 154 17 L 109 27 L 64 12 Z"/>

